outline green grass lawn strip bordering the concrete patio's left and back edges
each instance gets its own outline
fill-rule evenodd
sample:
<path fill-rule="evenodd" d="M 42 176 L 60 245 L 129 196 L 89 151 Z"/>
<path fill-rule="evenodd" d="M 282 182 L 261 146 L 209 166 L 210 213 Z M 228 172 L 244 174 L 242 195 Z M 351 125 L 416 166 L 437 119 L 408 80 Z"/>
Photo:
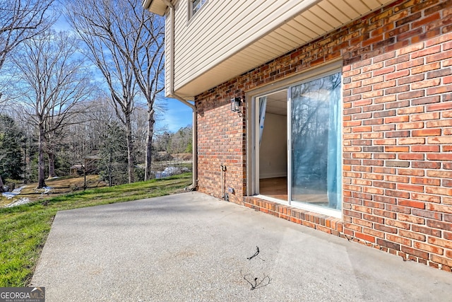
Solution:
<path fill-rule="evenodd" d="M 28 285 L 57 211 L 174 194 L 190 184 L 186 173 L 0 209 L 0 287 Z"/>

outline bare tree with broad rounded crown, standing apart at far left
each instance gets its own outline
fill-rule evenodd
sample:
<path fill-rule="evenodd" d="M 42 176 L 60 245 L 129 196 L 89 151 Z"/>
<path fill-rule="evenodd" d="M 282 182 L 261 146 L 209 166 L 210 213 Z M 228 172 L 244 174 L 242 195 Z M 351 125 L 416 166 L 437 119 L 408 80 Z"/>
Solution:
<path fill-rule="evenodd" d="M 24 44 L 23 52 L 14 61 L 22 73 L 18 89 L 27 90 L 23 94 L 22 102 L 26 104 L 23 110 L 39 133 L 37 187 L 41 188 L 45 187 L 44 146 L 47 143 L 52 161 L 52 139 L 71 123 L 76 113 L 74 106 L 88 98 L 92 88 L 74 37 L 47 31 Z M 51 166 L 49 175 L 52 173 Z"/>

